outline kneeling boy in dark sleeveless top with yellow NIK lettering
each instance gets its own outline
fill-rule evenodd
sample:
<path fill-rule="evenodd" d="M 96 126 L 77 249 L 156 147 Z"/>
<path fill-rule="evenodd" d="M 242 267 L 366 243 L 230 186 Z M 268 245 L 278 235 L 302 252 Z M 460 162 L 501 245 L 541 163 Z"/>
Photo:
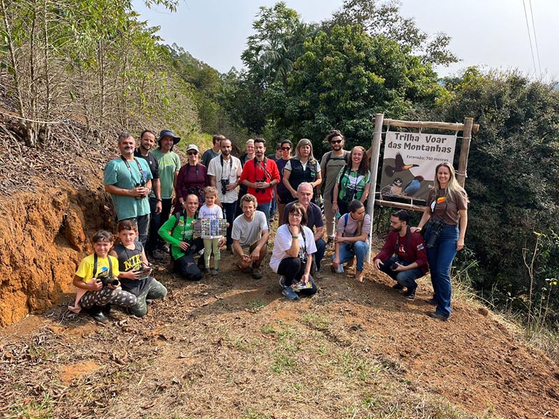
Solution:
<path fill-rule="evenodd" d="M 138 241 L 136 223 L 123 220 L 118 223 L 120 243 L 110 251 L 118 259 L 119 281 L 124 291 L 136 295 L 136 305 L 130 307 L 134 316 L 147 314 L 147 300 L 167 295 L 167 288 L 151 276 L 152 266 L 147 262 L 143 245 Z"/>

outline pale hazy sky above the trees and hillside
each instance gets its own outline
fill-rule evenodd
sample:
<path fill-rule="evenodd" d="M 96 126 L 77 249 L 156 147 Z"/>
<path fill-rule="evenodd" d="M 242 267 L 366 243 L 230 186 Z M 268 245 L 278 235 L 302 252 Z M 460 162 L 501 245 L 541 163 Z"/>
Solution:
<path fill-rule="evenodd" d="M 221 73 L 231 67 L 242 68 L 240 55 L 247 37 L 254 33 L 252 22 L 259 7 L 270 7 L 276 2 L 180 0 L 177 12 L 171 13 L 159 6 L 147 9 L 142 0 L 133 0 L 140 20 L 161 27 L 159 36 L 164 38 L 164 43 L 176 43 Z M 305 22 L 324 20 L 343 3 L 342 0 L 285 2 Z M 417 26 L 428 34 L 444 32 L 451 36 L 450 50 L 461 61 L 435 68 L 440 76 L 458 74 L 468 66 L 481 66 L 486 70 L 518 68 L 531 78 L 559 80 L 559 54 L 553 47 L 553 37 L 559 33 L 559 0 L 401 0 L 400 13 L 413 17 Z"/>

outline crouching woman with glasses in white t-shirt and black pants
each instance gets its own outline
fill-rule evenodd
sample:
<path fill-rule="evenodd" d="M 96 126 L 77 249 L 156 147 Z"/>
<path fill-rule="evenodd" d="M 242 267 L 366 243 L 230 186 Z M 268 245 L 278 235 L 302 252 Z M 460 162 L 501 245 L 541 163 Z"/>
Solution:
<path fill-rule="evenodd" d="M 288 223 L 277 229 L 270 267 L 282 275 L 279 284 L 289 300 L 317 293 L 317 285 L 310 275 L 312 255 L 317 251 L 312 230 L 306 226 L 307 212 L 300 203 L 289 209 Z"/>

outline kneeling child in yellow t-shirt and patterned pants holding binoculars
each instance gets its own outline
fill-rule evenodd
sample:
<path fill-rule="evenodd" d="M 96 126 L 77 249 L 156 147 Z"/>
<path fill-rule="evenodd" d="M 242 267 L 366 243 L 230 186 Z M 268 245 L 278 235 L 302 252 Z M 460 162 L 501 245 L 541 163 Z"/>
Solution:
<path fill-rule="evenodd" d="M 118 260 L 108 255 L 112 247 L 112 234 L 99 230 L 92 241 L 95 253 L 82 259 L 74 275 L 73 284 L 78 287 L 78 293 L 75 307 L 71 310 L 78 312 L 80 307 L 87 309 L 96 321 L 108 323 L 103 307 L 108 307 L 108 304 L 133 307 L 136 305 L 136 296 L 120 289 Z"/>

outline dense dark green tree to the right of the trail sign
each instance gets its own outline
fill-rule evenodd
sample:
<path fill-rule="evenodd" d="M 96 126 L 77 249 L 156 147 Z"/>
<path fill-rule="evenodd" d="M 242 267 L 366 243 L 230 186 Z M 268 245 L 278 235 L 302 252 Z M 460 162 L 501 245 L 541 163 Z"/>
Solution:
<path fill-rule="evenodd" d="M 474 281 L 500 304 L 511 299 L 523 304 L 530 288 L 523 249 L 535 248 L 533 232 L 556 237 L 551 232 L 559 230 L 559 91 L 517 72 L 484 74 L 477 68 L 445 85 L 451 94 L 434 117 L 474 117 L 480 124 L 465 185 L 470 196 L 466 244 L 481 267 Z M 547 272 L 541 281 L 559 269 L 556 256 L 544 265 L 536 267 Z"/>

